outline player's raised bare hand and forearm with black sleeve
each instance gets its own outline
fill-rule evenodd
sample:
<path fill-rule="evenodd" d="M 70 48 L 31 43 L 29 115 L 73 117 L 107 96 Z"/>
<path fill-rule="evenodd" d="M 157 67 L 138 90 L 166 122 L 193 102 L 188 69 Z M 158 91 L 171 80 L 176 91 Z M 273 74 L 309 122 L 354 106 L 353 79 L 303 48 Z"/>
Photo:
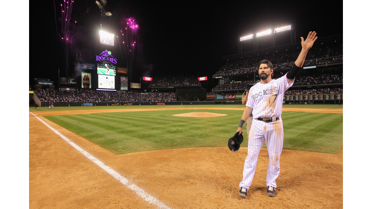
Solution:
<path fill-rule="evenodd" d="M 301 49 L 300 54 L 298 55 L 297 60 L 294 62 L 294 66 L 287 73 L 288 83 L 290 83 L 294 79 L 294 77 L 298 74 L 298 72 L 300 71 L 300 69 L 304 65 L 306 55 L 308 54 L 310 48 L 312 47 L 312 45 L 314 44 L 316 39 L 318 39 L 318 36 L 316 36 L 315 31 L 312 31 L 312 32 L 310 31 L 306 40 L 304 40 L 304 38 L 301 37 L 302 49 Z"/>

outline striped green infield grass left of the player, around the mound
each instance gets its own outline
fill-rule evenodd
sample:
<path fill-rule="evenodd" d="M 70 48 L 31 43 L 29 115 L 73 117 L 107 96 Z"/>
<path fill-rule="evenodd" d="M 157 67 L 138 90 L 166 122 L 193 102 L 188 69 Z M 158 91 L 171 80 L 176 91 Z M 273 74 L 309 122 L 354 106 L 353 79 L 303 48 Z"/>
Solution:
<path fill-rule="evenodd" d="M 175 114 L 211 112 L 227 116 L 176 117 Z M 122 154 L 155 149 L 227 146 L 242 111 L 159 110 L 46 116 L 93 143 Z"/>

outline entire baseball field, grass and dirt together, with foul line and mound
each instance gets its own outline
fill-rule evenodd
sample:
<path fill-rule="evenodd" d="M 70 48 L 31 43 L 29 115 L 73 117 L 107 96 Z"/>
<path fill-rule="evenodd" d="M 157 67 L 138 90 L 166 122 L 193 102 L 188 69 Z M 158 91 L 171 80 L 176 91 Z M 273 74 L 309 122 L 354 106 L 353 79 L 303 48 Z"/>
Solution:
<path fill-rule="evenodd" d="M 246 129 L 227 142 L 244 107 L 30 107 L 30 208 L 342 208 L 342 105 L 283 105 L 277 195 L 263 147 L 242 199 Z"/>

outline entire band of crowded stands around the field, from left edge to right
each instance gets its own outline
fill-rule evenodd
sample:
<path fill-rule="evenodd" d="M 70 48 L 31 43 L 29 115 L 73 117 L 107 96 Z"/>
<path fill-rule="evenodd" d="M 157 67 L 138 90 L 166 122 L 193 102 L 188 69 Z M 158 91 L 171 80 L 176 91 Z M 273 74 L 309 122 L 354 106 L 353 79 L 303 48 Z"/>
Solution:
<path fill-rule="evenodd" d="M 339 101 L 342 103 L 342 43 L 342 34 L 318 38 L 307 55 L 303 70 L 296 76 L 294 85 L 286 91 L 284 104 L 304 104 L 305 101 L 307 104 L 338 104 Z M 75 103 L 75 105 L 83 105 L 83 103 L 139 105 L 152 102 L 178 104 L 176 103 L 178 101 L 238 104 L 244 90 L 260 80 L 256 66 L 259 61 L 270 60 L 273 63 L 275 79 L 292 68 L 299 52 L 300 43 L 294 43 L 222 57 L 225 64 L 212 76 L 211 79 L 217 80 L 215 82 L 217 85 L 212 89 L 203 88 L 198 78 L 191 75 L 154 76 L 151 81 L 142 80 L 140 89 L 109 92 L 79 90 L 79 88 L 54 90 L 53 82 L 47 80 L 39 83 L 49 84 L 49 89 L 40 88 L 41 85 L 38 85 L 39 88 L 34 88 L 35 95 L 30 95 L 30 105 L 34 104 L 31 100 L 36 101 L 39 106 L 47 106 L 49 102 L 62 106 L 67 103 Z M 218 101 L 232 103 L 218 103 Z"/>

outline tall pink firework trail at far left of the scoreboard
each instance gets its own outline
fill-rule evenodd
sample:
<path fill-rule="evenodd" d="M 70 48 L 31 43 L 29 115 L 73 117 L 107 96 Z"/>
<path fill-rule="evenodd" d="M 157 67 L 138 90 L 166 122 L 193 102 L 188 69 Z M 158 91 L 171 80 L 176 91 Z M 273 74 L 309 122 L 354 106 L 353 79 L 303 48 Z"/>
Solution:
<path fill-rule="evenodd" d="M 65 63 L 65 70 L 66 74 L 68 74 L 68 68 L 69 68 L 69 56 L 70 56 L 70 47 L 72 38 L 74 37 L 74 29 L 76 25 L 76 21 L 74 23 L 74 26 L 72 28 L 72 32 L 70 32 L 70 20 L 71 20 L 71 13 L 72 13 L 72 7 L 73 7 L 73 0 L 66 1 L 64 0 L 61 4 L 61 17 L 59 18 L 59 21 L 61 23 L 61 28 L 58 30 L 57 26 L 57 15 L 56 15 L 56 4 L 54 3 L 54 18 L 56 21 L 56 29 L 57 33 L 60 36 L 60 40 L 62 43 L 62 54 L 64 57 L 64 63 Z"/>

